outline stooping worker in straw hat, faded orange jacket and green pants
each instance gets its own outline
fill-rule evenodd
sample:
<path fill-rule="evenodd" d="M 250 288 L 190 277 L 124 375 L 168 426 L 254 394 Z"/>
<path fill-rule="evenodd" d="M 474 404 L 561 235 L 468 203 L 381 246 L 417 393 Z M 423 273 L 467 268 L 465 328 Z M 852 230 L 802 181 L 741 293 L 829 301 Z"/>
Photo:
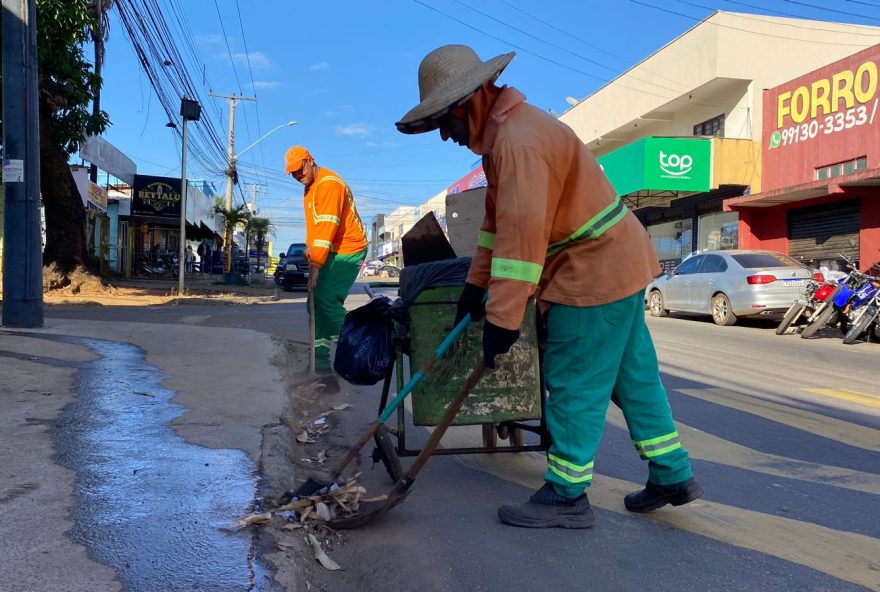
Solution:
<path fill-rule="evenodd" d="M 432 51 L 419 65 L 421 101 L 397 122 L 407 134 L 439 130 L 483 157 L 486 214 L 458 317 L 485 315 L 486 366 L 494 368 L 519 338 L 533 296 L 546 323 L 552 444 L 545 483 L 498 515 L 533 528 L 595 524 L 586 489 L 609 401 L 623 410 L 648 461 L 647 485 L 626 496 L 626 508 L 686 504 L 703 490 L 675 429 L 644 318 L 657 256 L 575 133 L 515 88 L 495 84 L 513 56 L 483 62 L 464 45 Z"/>

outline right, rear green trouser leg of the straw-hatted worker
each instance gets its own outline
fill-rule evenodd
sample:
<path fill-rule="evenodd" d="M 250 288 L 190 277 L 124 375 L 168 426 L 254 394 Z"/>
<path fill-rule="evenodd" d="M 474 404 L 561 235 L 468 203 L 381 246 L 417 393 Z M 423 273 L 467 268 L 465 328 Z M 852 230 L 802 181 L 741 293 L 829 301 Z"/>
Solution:
<path fill-rule="evenodd" d="M 636 451 L 648 461 L 648 479 L 669 485 L 689 479 L 693 471 L 660 380 L 657 353 L 645 324 L 643 298 L 640 291 L 619 301 L 625 302 L 633 322 L 614 386 L 614 402 L 623 411 Z"/>

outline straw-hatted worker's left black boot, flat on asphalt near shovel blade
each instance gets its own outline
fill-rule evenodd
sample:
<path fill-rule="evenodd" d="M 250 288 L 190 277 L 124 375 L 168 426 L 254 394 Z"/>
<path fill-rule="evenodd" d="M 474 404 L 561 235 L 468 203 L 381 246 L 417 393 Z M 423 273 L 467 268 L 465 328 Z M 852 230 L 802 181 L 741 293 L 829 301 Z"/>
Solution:
<path fill-rule="evenodd" d="M 590 528 L 596 524 L 586 493 L 573 499 L 564 497 L 550 483 L 544 483 L 524 504 L 498 508 L 498 518 L 524 528 Z"/>

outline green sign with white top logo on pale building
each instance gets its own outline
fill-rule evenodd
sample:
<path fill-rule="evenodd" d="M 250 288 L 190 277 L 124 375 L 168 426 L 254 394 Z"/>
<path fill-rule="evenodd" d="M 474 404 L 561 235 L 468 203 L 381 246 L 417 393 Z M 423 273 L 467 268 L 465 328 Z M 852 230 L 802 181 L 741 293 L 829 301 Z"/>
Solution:
<path fill-rule="evenodd" d="M 712 140 L 647 137 L 599 158 L 619 195 L 636 191 L 702 193 L 712 187 Z"/>

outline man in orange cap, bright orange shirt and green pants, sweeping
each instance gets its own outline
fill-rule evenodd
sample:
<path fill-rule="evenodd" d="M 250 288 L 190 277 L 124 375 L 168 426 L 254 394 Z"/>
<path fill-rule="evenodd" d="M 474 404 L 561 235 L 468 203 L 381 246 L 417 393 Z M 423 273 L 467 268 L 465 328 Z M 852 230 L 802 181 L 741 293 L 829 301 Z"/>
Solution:
<path fill-rule="evenodd" d="M 306 256 L 309 299 L 315 303 L 315 366 L 325 392 L 339 389 L 330 362 L 330 345 L 345 320 L 345 299 L 367 256 L 367 235 L 351 188 L 337 173 L 319 166 L 309 151 L 293 146 L 284 172 L 305 187 Z"/>

